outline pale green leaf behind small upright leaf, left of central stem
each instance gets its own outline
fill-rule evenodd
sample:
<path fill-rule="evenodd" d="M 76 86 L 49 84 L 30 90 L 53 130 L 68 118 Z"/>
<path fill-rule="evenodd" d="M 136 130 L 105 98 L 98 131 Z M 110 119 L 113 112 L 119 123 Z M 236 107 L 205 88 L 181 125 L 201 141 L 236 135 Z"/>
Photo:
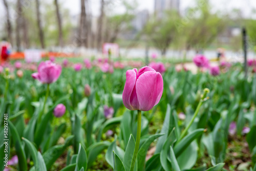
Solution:
<path fill-rule="evenodd" d="M 120 148 L 119 146 L 116 145 L 116 139 L 110 144 L 110 146 L 108 147 L 108 150 L 106 151 L 105 154 L 105 159 L 106 162 L 108 162 L 113 168 L 113 151 L 120 157 L 121 161 L 123 160 L 124 157 L 124 151 L 122 148 Z"/>

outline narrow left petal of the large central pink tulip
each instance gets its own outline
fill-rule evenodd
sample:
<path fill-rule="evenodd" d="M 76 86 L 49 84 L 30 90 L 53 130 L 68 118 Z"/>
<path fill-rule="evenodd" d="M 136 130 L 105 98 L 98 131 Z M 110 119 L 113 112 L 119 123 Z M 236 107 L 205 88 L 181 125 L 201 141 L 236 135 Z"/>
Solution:
<path fill-rule="evenodd" d="M 131 95 L 137 79 L 137 69 L 126 71 L 126 81 L 123 89 L 123 104 L 129 110 L 135 110 L 131 105 Z M 134 98 L 134 97 L 133 97 Z"/>

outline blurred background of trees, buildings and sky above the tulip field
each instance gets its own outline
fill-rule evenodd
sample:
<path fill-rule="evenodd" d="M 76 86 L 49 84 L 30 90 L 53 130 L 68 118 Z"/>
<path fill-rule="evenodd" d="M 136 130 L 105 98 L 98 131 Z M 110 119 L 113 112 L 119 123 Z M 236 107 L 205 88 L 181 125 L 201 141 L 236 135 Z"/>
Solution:
<path fill-rule="evenodd" d="M 254 0 L 1 0 L 0 39 L 11 58 L 28 49 L 97 57 L 108 42 L 122 57 L 216 58 L 221 50 L 239 60 L 243 27 L 254 57 L 255 19 Z"/>

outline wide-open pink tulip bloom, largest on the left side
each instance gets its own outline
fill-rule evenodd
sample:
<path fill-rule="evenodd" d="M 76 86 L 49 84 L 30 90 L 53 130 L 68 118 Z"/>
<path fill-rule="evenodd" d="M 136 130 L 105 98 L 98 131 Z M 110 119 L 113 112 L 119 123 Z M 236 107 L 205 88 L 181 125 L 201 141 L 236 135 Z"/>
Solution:
<path fill-rule="evenodd" d="M 38 79 L 42 83 L 55 82 L 61 74 L 61 66 L 50 60 L 42 61 L 37 69 L 37 73 L 33 73 L 32 77 Z"/>

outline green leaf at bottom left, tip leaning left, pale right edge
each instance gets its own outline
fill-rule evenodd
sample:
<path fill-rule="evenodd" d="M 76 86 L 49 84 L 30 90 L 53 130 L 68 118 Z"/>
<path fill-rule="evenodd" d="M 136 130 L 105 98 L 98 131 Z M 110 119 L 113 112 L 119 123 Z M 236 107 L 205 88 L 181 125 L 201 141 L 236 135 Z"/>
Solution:
<path fill-rule="evenodd" d="M 41 153 L 37 152 L 36 147 L 29 140 L 27 140 L 26 138 L 22 138 L 22 139 L 28 146 L 29 153 L 34 161 L 35 170 L 40 170 L 40 171 L 47 170 L 44 158 L 42 158 Z"/>

